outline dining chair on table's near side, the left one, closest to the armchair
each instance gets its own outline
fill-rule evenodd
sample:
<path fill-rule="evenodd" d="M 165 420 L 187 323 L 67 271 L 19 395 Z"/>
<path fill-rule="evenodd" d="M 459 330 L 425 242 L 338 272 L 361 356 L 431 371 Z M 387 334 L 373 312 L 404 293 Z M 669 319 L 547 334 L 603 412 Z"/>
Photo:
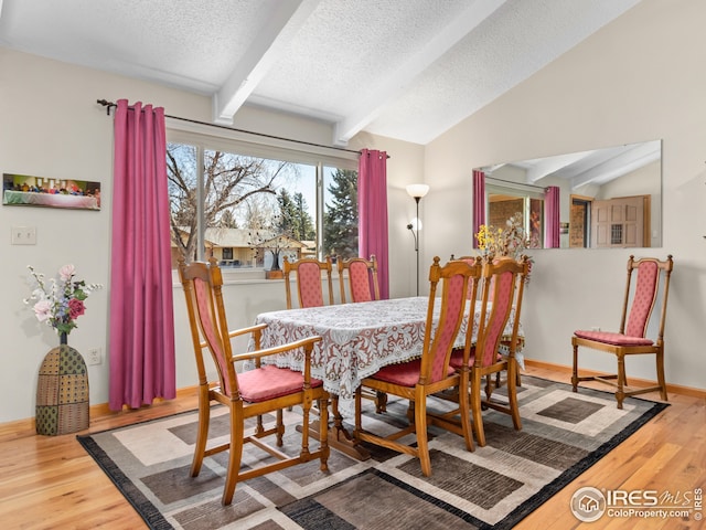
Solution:
<path fill-rule="evenodd" d="M 471 278 L 479 276 L 480 266 L 478 265 L 457 261 L 442 267 L 439 265 L 439 257 L 435 257 L 429 269 L 430 290 L 421 358 L 383 367 L 373 375 L 364 378 L 355 392 L 355 428 L 353 431 L 355 442 L 368 442 L 419 458 L 421 473 L 425 476 L 431 475 L 427 435 L 427 399 L 446 389 L 467 388 L 469 384 L 468 370 L 454 370 L 449 365 L 449 360 L 463 315 L 469 306 L 466 303 L 468 283 Z M 436 293 L 439 282 L 441 282 L 441 297 L 437 299 Z M 439 304 L 438 318 L 436 319 L 435 304 Z M 472 312 L 470 315 L 472 322 Z M 467 347 L 463 351 L 468 359 L 470 339 L 467 339 Z M 375 434 L 364 430 L 361 398 L 365 388 L 409 400 L 409 424 L 391 434 Z M 468 393 L 461 395 L 459 407 L 460 430 L 457 430 L 454 425 L 449 425 L 449 427 L 452 432 L 463 436 L 468 451 L 473 451 Z M 403 436 L 413 433 L 416 437 L 416 445 L 407 445 L 399 441 Z"/>

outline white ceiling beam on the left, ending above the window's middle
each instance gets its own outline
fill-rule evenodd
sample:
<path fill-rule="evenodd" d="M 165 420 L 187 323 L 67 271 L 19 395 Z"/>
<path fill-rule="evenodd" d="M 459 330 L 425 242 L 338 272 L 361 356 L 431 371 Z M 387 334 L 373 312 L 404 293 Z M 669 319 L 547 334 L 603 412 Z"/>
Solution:
<path fill-rule="evenodd" d="M 233 125 L 233 116 L 267 75 L 321 0 L 278 2 L 268 24 L 261 29 L 247 53 L 223 86 L 213 95 L 213 120 Z"/>

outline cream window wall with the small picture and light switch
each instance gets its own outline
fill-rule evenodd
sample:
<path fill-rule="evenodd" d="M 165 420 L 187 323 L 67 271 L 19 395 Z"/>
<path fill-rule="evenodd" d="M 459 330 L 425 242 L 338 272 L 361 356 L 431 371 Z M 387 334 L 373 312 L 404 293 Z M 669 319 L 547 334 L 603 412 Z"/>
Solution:
<path fill-rule="evenodd" d="M 72 66 L 0 47 L 0 172 L 74 178 L 101 182 L 99 212 L 0 205 L 0 422 L 34 416 L 38 370 L 44 354 L 58 343 L 47 326 L 40 325 L 22 304 L 30 294 L 26 265 L 53 276 L 73 263 L 77 277 L 103 283 L 105 288 L 86 300 L 86 314 L 68 337 L 71 346 L 86 352 L 100 348 L 104 362 L 88 367 L 90 403 L 108 401 L 108 307 L 110 273 L 110 197 L 113 182 L 113 117 L 96 99 L 163 106 L 165 113 L 197 120 L 211 119 L 208 98 Z M 333 132 L 318 121 L 245 108 L 235 127 L 281 137 L 330 145 Z M 424 148 L 385 138 L 354 139 L 351 149 L 387 150 L 389 190 L 391 293 L 411 293 L 414 247 L 405 225 L 414 201 L 404 187 L 424 179 Z M 36 227 L 38 244 L 10 245 L 11 226 Z M 338 286 L 335 286 L 338 288 Z M 235 283 L 226 288 L 232 327 L 250 325 L 255 316 L 285 307 L 281 282 Z M 191 339 L 181 288 L 174 288 L 176 322 L 176 385 L 196 384 Z"/>

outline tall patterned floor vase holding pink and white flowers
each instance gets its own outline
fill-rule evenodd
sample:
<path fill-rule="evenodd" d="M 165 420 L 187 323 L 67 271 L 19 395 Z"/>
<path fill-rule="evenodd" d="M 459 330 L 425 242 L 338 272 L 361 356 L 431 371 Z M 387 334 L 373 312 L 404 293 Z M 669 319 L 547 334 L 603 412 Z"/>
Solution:
<path fill-rule="evenodd" d="M 28 267 L 36 284 L 24 299 L 34 316 L 58 333 L 60 346 L 50 350 L 40 367 L 36 388 L 36 434 L 68 434 L 88 428 L 88 371 L 78 351 L 68 346 L 68 333 L 84 315 L 84 300 L 101 287 L 76 279 L 73 265 L 64 265 L 57 278 Z"/>

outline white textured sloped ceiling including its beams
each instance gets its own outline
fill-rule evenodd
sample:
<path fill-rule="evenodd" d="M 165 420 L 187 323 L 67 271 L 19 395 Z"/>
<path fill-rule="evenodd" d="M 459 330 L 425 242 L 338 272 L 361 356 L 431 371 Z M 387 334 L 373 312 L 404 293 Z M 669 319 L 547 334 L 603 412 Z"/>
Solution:
<path fill-rule="evenodd" d="M 424 145 L 639 1 L 0 0 L 0 45 Z"/>

